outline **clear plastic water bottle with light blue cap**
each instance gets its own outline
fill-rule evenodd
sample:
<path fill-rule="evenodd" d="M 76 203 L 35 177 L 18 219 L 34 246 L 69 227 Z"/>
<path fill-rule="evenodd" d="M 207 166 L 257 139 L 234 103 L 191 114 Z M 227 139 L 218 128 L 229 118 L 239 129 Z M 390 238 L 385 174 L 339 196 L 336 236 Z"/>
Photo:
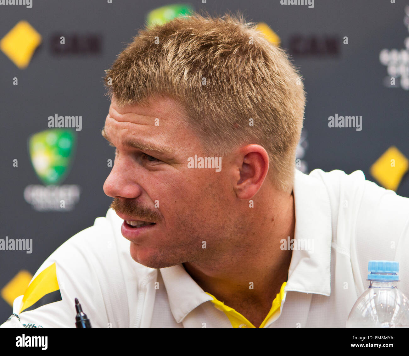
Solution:
<path fill-rule="evenodd" d="M 396 287 L 399 262 L 369 261 L 369 288 L 355 302 L 346 327 L 409 327 L 409 300 Z"/>

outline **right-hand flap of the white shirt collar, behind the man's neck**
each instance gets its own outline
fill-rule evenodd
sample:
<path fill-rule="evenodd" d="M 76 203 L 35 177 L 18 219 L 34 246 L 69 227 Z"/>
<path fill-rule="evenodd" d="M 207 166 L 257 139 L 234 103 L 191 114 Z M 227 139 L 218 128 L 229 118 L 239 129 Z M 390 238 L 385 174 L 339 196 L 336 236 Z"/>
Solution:
<path fill-rule="evenodd" d="M 331 293 L 331 207 L 326 187 L 319 178 L 321 172 L 316 169 L 306 175 L 295 170 L 294 246 L 313 246 L 313 249 L 309 253 L 307 249 L 294 247 L 285 291 L 324 296 Z"/>

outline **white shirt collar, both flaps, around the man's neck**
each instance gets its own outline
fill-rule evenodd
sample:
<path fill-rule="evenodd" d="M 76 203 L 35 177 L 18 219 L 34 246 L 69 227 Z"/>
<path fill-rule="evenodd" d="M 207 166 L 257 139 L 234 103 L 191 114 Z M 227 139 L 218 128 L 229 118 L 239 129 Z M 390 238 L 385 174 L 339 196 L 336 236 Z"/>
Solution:
<path fill-rule="evenodd" d="M 328 193 L 322 180 L 316 175 L 306 175 L 297 169 L 295 171 L 295 247 L 285 292 L 299 291 L 329 296 L 332 226 Z M 299 245 L 297 240 L 303 240 L 304 245 Z M 313 249 L 308 252 L 307 249 L 297 249 L 298 246 L 312 246 Z M 181 322 L 202 303 L 212 300 L 182 264 L 161 268 L 160 273 L 176 322 Z"/>

